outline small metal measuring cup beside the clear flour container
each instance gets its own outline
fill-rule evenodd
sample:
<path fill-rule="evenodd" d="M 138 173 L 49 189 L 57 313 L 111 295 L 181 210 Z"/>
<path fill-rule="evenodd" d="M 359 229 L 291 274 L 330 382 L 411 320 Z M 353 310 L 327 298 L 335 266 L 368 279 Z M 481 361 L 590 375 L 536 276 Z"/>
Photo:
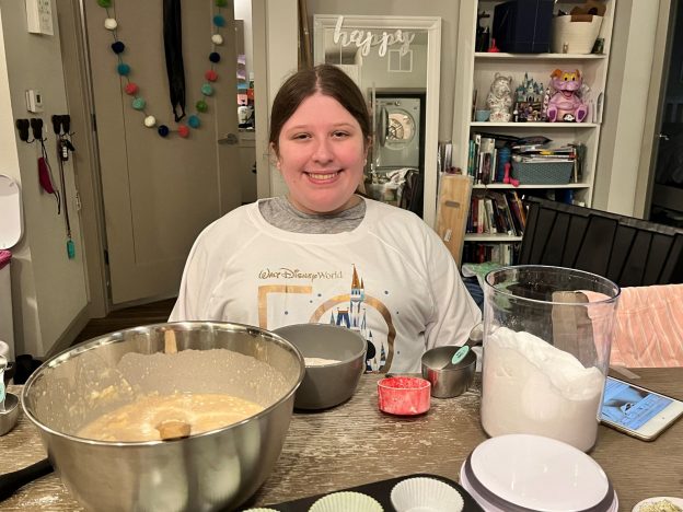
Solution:
<path fill-rule="evenodd" d="M 459 348 L 449 345 L 422 354 L 422 377 L 431 382 L 431 396 L 451 398 L 462 395 L 472 385 L 476 366 L 476 354 L 472 349 L 458 364 L 445 366 Z"/>

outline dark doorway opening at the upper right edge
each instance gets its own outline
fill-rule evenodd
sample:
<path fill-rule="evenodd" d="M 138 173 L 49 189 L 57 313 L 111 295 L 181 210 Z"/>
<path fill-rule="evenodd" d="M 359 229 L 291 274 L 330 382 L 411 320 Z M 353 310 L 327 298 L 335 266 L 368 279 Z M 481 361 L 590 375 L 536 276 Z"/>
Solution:
<path fill-rule="evenodd" d="M 672 0 L 649 219 L 683 229 L 683 0 Z"/>

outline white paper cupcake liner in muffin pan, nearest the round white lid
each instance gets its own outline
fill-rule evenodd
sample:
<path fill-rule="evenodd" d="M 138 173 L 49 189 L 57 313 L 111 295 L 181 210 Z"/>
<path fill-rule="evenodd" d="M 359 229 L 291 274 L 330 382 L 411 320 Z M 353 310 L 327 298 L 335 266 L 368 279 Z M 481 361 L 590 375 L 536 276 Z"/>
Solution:
<path fill-rule="evenodd" d="M 435 478 L 407 478 L 394 486 L 392 504 L 397 512 L 460 512 L 464 502 L 454 487 Z"/>

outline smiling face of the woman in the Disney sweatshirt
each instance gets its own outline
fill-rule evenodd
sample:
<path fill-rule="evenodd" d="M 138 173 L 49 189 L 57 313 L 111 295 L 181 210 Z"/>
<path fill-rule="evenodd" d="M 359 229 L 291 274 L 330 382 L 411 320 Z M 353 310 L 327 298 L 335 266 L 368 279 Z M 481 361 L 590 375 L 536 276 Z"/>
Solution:
<path fill-rule="evenodd" d="M 301 102 L 282 125 L 276 154 L 299 211 L 336 213 L 360 201 L 354 193 L 363 176 L 363 133 L 332 96 L 316 92 Z"/>

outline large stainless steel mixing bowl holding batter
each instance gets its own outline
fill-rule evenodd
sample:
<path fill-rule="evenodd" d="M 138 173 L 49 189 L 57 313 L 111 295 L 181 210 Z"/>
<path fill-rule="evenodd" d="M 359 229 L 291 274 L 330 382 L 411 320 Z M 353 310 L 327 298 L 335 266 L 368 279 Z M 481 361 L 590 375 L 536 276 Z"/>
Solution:
<path fill-rule="evenodd" d="M 135 386 L 118 370 L 125 354 L 177 350 L 178 356 L 192 357 L 197 352 L 182 352 L 217 348 L 252 356 L 263 362 L 254 364 L 264 371 L 190 363 L 175 368 L 162 385 L 170 391 L 229 393 L 261 404 L 262 412 L 173 441 L 78 437 L 93 418 L 131 402 Z M 147 369 L 140 373 L 147 374 Z M 276 463 L 303 375 L 300 352 L 267 330 L 229 323 L 157 324 L 95 338 L 46 361 L 26 382 L 22 406 L 61 480 L 86 509 L 232 510 L 258 489 Z"/>

